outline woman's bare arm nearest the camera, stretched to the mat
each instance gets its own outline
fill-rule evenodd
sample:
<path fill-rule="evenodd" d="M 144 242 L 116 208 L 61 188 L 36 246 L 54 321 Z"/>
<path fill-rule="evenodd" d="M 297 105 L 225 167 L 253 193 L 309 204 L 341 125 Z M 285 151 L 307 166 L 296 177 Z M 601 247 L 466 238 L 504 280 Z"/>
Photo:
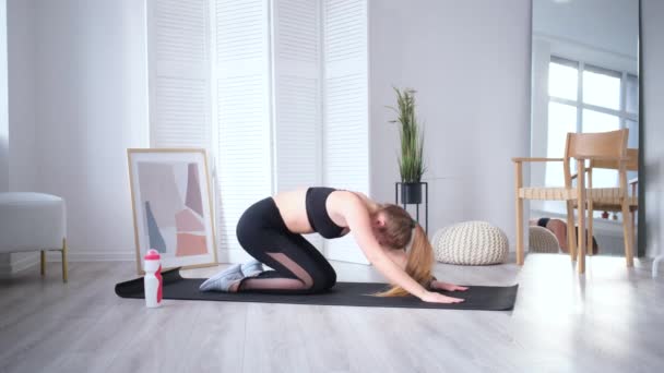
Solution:
<path fill-rule="evenodd" d="M 411 276 L 408 276 L 398 264 L 392 262 L 392 260 L 386 253 L 383 253 L 380 244 L 374 237 L 369 213 L 367 212 L 367 207 L 361 200 L 354 194 L 348 194 L 348 196 L 345 196 L 344 200 L 345 201 L 342 207 L 343 214 L 346 219 L 346 224 L 355 237 L 355 241 L 369 262 L 371 262 L 371 264 L 374 264 L 391 284 L 399 285 L 407 292 L 427 302 L 452 303 L 462 301 L 461 299 L 450 298 L 437 292 L 428 291 L 413 278 L 411 278 Z"/>

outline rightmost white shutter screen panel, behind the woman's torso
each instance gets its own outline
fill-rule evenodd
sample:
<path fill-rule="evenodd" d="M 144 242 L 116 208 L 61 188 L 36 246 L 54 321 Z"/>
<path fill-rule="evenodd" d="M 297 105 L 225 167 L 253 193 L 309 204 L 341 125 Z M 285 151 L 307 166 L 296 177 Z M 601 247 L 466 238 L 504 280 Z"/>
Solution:
<path fill-rule="evenodd" d="M 369 193 L 367 1 L 323 0 L 323 182 Z M 351 238 L 325 242 L 329 258 L 368 263 Z"/>

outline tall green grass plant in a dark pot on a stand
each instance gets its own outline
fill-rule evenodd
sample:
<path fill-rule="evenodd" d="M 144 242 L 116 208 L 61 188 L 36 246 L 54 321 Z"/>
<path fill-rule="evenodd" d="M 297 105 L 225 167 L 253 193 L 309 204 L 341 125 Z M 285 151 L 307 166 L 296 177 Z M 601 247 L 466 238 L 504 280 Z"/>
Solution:
<path fill-rule="evenodd" d="M 422 176 L 426 168 L 423 158 L 424 131 L 420 129 L 415 116 L 415 91 L 411 88 L 399 89 L 396 93 L 396 107 L 390 107 L 396 112 L 396 119 L 390 121 L 398 123 L 401 139 L 401 155 L 399 156 L 399 172 L 401 173 L 401 201 L 405 204 L 422 203 Z"/>

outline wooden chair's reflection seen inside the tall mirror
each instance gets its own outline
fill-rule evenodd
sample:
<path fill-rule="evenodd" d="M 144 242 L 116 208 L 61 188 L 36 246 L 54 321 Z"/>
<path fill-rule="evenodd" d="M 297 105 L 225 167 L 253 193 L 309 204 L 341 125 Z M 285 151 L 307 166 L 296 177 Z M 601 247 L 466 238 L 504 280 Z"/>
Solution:
<path fill-rule="evenodd" d="M 628 148 L 626 152 L 625 171 L 638 171 L 639 170 L 639 149 Z M 586 168 L 588 178 L 588 239 L 593 237 L 593 213 L 595 210 L 610 212 L 610 213 L 622 213 L 622 232 L 625 234 L 625 248 L 627 242 L 633 244 L 636 242 L 635 231 L 637 226 L 637 212 L 639 209 L 639 198 L 637 196 L 637 188 L 639 178 L 635 178 L 628 181 L 630 186 L 627 190 L 621 188 L 593 188 L 593 169 L 612 169 L 620 170 L 620 161 L 610 159 L 591 159 Z M 576 177 L 572 176 L 572 179 Z M 622 196 L 626 196 L 622 198 Z M 625 215 L 622 212 L 622 200 L 627 200 L 627 207 L 629 214 Z M 630 216 L 631 215 L 631 216 Z M 628 218 L 629 216 L 629 218 Z M 629 220 L 628 220 L 629 219 Z M 631 229 L 627 229 L 626 225 L 630 224 Z M 629 237 L 627 236 L 629 231 Z M 627 251 L 625 252 L 627 255 Z M 628 265 L 631 266 L 629 258 Z"/>

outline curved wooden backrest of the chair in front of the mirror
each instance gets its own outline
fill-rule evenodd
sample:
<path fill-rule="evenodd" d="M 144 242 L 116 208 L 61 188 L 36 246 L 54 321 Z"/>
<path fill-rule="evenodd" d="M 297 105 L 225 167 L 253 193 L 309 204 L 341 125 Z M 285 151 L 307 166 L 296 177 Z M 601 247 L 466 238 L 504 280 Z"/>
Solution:
<path fill-rule="evenodd" d="M 565 186 L 571 188 L 572 183 L 570 158 L 600 157 L 603 161 L 618 165 L 619 159 L 626 157 L 628 136 L 628 129 L 598 133 L 569 132 L 565 144 Z M 624 173 L 620 175 L 620 184 L 624 184 L 626 182 Z"/>

